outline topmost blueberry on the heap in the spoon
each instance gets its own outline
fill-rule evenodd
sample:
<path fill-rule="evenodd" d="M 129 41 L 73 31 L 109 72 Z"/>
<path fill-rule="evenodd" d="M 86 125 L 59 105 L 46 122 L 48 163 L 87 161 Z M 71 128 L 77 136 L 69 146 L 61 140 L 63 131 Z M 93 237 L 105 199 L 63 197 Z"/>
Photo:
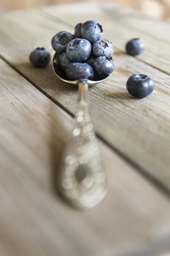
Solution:
<path fill-rule="evenodd" d="M 102 39 L 103 29 L 102 26 L 94 20 L 88 20 L 82 24 L 82 38 L 87 39 L 93 44 L 97 40 Z"/>

